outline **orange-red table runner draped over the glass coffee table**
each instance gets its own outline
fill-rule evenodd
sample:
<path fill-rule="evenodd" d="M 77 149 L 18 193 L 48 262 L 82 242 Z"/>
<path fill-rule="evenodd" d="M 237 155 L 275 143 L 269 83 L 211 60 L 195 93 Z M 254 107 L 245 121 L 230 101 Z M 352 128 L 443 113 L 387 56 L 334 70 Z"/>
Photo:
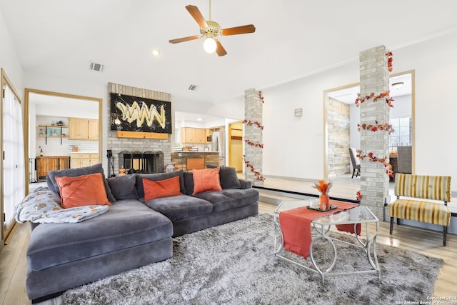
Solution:
<path fill-rule="evenodd" d="M 358 204 L 350 204 L 348 202 L 330 200 L 332 205 L 337 205 L 338 208 L 331 211 L 321 212 L 308 209 L 306 206 L 282 211 L 279 213 L 279 222 L 281 231 L 284 237 L 284 248 L 294 254 L 303 256 L 306 259 L 309 255 L 309 246 L 311 245 L 311 221 L 318 217 L 335 214 L 338 211 L 345 211 Z M 354 233 L 353 224 L 338 224 L 336 228 L 339 231 Z M 360 235 L 361 226 L 357 224 L 357 234 Z"/>

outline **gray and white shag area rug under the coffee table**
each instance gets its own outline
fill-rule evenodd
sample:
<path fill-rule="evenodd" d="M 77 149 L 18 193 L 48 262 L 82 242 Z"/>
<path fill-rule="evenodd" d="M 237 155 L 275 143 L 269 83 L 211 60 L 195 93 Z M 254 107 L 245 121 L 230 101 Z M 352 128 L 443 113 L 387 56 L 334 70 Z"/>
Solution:
<path fill-rule="evenodd" d="M 330 276 L 322 284 L 318 274 L 275 259 L 273 235 L 273 216 L 268 214 L 186 234 L 174 239 L 171 259 L 69 289 L 61 300 L 123 305 L 406 304 L 432 296 L 443 265 L 442 259 L 378 244 L 381 279 L 377 274 Z M 334 270 L 368 264 L 362 250 L 341 243 L 337 248 Z M 324 261 L 333 254 L 326 243 L 313 251 Z"/>

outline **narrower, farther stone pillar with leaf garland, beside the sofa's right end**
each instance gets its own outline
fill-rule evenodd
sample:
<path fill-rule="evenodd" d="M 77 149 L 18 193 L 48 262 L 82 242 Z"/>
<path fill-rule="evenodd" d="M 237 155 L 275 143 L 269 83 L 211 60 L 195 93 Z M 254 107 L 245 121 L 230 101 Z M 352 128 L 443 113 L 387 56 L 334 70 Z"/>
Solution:
<path fill-rule="evenodd" d="M 258 94 L 259 92 L 255 89 L 244 91 L 244 117 L 248 121 L 258 121 L 262 123 L 263 104 Z M 244 124 L 244 139 L 263 144 L 263 131 L 256 124 L 252 124 L 251 126 Z M 255 171 L 258 171 L 261 174 L 263 164 L 262 156 L 263 149 L 246 143 L 244 144 L 244 161 L 249 161 Z M 256 179 L 255 174 L 249 167 L 245 168 L 244 176 L 245 179 L 251 181 L 252 184 L 261 184 L 263 182 Z"/>

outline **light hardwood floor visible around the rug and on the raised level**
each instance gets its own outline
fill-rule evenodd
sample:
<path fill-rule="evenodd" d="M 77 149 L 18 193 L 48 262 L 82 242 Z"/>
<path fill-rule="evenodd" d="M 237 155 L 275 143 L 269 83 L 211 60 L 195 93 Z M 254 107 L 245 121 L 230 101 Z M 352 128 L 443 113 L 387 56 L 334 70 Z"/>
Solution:
<path fill-rule="evenodd" d="M 274 179 L 268 180 L 269 185 L 275 184 Z M 311 182 L 294 184 L 293 181 L 276 180 L 275 187 L 287 186 L 288 189 L 296 187 L 300 192 L 303 192 L 303 189 L 306 189 L 306 191 L 313 190 Z M 331 190 L 332 194 L 334 196 L 336 194 L 348 194 L 348 196 L 351 196 L 355 194 L 354 190 L 359 189 L 359 182 L 356 180 L 351 179 L 351 181 L 346 181 L 345 183 L 346 185 L 341 186 L 343 183 L 338 183 L 338 187 L 334 186 Z M 273 214 L 275 209 L 276 206 L 273 204 L 259 202 L 259 214 Z M 395 226 L 393 235 L 390 235 L 389 224 L 381 222 L 380 233 L 376 241 L 379 244 L 396 246 L 443 259 L 443 268 L 440 271 L 438 281 L 436 281 L 433 296 L 457 296 L 457 236 L 448 234 L 447 246 L 441 246 L 442 238 L 441 232 L 404 225 Z M 0 304 L 31 304 L 25 289 L 26 249 L 29 245 L 29 239 L 29 224 L 18 224 L 12 233 L 9 244 L 4 246 L 0 252 Z M 59 304 L 59 298 L 42 303 L 42 305 L 44 304 Z"/>

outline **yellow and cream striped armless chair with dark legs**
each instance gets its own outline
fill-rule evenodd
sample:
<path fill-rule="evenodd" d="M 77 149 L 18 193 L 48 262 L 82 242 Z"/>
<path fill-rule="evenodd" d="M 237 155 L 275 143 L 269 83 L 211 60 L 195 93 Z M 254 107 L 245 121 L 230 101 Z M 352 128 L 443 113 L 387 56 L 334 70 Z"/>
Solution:
<path fill-rule="evenodd" d="M 398 224 L 398 219 L 438 224 L 443 226 L 443 246 L 446 246 L 446 234 L 451 221 L 451 211 L 447 206 L 451 201 L 451 177 L 396 174 L 395 195 L 396 201 L 387 206 L 388 216 L 391 217 L 390 233 L 393 231 L 394 218 Z M 401 196 L 408 198 L 401 199 Z"/>

